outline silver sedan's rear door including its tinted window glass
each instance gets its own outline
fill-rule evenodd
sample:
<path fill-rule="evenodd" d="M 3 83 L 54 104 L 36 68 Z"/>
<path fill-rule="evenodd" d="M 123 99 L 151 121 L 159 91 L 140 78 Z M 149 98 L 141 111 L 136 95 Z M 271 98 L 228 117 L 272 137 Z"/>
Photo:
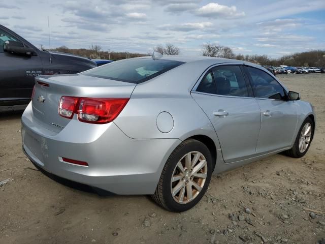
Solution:
<path fill-rule="evenodd" d="M 209 70 L 192 97 L 205 111 L 217 133 L 226 163 L 256 154 L 261 114 L 239 65 Z"/>

